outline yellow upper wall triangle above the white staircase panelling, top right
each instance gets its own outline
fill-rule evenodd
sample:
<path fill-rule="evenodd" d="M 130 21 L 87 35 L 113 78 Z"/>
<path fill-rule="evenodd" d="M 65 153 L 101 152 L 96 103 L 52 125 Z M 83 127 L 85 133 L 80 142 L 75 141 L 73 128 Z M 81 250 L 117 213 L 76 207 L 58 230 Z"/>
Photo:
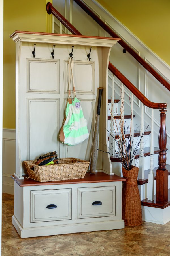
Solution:
<path fill-rule="evenodd" d="M 170 65 L 170 0 L 97 0 Z"/>

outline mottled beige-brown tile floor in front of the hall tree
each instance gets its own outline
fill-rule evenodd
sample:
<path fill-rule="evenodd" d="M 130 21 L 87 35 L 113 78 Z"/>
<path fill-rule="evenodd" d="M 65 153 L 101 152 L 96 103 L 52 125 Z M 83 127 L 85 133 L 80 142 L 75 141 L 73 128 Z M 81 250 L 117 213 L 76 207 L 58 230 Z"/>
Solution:
<path fill-rule="evenodd" d="M 14 196 L 3 193 L 2 256 L 170 255 L 170 222 L 121 230 L 20 238 L 12 226 Z"/>

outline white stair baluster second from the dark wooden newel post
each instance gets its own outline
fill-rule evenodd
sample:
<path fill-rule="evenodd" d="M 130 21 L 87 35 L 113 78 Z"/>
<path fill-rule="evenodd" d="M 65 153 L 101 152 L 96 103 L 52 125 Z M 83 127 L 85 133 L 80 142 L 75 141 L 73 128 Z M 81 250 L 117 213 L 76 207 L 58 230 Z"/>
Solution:
<path fill-rule="evenodd" d="M 141 136 L 144 133 L 144 117 L 143 117 L 143 111 L 144 111 L 144 105 L 141 103 Z M 141 139 L 140 142 L 140 157 L 139 157 L 139 179 L 144 179 L 144 172 L 145 172 L 145 156 L 143 154 L 144 152 L 144 139 Z"/>

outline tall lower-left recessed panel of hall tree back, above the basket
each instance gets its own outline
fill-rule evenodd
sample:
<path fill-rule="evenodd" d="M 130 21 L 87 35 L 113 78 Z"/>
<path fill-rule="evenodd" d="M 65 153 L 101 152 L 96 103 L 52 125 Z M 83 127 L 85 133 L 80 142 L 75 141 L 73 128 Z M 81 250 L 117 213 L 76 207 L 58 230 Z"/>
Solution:
<path fill-rule="evenodd" d="M 58 100 L 29 100 L 28 158 L 59 151 L 59 107 Z"/>

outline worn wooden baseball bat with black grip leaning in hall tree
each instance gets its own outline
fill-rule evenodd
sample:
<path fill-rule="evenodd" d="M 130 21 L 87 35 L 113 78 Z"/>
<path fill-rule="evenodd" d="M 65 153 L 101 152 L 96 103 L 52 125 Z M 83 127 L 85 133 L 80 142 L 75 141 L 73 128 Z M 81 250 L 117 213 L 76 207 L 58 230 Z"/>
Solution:
<path fill-rule="evenodd" d="M 97 149 L 96 148 L 98 146 L 100 106 L 101 106 L 101 96 L 102 96 L 103 88 L 99 87 L 98 90 L 99 90 L 99 98 L 98 98 L 98 104 L 97 104 L 97 114 L 96 114 L 95 129 L 94 129 L 93 144 L 92 144 L 90 173 L 95 173 L 96 164 L 97 164 Z"/>

